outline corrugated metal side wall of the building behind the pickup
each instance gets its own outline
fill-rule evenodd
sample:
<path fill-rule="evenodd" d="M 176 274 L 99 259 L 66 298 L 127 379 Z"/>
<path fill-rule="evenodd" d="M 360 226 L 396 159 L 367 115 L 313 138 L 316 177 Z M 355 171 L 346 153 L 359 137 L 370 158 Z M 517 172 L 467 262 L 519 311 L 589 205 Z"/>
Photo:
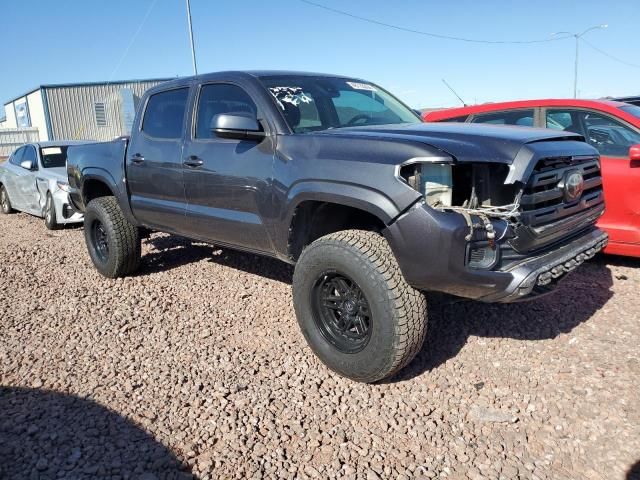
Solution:
<path fill-rule="evenodd" d="M 122 124 L 120 91 L 129 88 L 134 100 L 161 81 L 143 81 L 97 85 L 50 87 L 46 89 L 52 139 L 55 140 L 111 140 L 125 134 Z M 104 102 L 106 126 L 96 124 L 94 105 Z"/>

